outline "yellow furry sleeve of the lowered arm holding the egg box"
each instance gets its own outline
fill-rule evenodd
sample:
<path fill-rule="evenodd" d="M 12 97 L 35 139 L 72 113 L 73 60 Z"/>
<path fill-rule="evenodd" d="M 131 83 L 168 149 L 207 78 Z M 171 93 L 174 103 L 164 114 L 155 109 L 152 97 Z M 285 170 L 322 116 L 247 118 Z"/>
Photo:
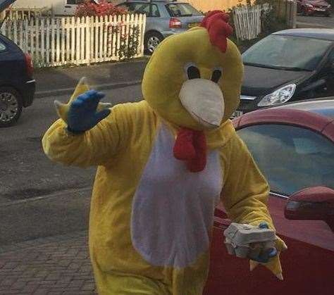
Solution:
<path fill-rule="evenodd" d="M 221 201 L 233 222 L 258 225 L 267 222 L 273 228 L 266 203 L 269 187 L 252 155 L 235 134 L 225 151 L 225 183 Z"/>

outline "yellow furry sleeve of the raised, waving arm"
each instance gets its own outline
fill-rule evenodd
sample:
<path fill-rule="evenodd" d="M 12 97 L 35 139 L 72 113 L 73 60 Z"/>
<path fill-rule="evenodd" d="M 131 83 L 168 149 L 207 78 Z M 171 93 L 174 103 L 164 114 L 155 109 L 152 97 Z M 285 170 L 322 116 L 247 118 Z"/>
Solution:
<path fill-rule="evenodd" d="M 111 109 L 111 114 L 91 130 L 69 134 L 66 123 L 59 119 L 44 134 L 44 153 L 52 161 L 65 165 L 88 167 L 104 165 L 128 141 L 125 105 Z"/>

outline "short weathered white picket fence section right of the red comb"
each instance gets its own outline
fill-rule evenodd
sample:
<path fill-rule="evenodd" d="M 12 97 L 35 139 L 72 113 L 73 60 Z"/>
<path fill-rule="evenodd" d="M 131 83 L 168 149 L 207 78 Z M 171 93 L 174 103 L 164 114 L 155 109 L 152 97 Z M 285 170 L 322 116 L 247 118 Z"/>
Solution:
<path fill-rule="evenodd" d="M 263 6 L 241 6 L 233 9 L 233 23 L 237 39 L 252 40 L 261 33 L 261 11 Z"/>

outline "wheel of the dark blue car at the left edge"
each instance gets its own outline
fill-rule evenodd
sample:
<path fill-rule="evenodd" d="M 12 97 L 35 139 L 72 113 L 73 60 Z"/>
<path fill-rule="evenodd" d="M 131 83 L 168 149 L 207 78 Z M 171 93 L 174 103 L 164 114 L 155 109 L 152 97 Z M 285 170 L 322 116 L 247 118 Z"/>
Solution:
<path fill-rule="evenodd" d="M 16 123 L 22 112 L 22 98 L 11 87 L 0 87 L 0 127 Z"/>

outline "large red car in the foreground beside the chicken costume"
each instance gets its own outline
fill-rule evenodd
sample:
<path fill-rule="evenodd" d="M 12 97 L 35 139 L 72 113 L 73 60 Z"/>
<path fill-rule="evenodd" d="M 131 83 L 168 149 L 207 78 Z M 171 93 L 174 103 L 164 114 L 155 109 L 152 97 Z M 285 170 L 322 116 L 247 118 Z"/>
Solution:
<path fill-rule="evenodd" d="M 247 259 L 230 256 L 218 206 L 205 295 L 334 294 L 334 97 L 299 101 L 233 120 L 271 185 L 268 208 L 278 236 L 283 282 Z"/>

